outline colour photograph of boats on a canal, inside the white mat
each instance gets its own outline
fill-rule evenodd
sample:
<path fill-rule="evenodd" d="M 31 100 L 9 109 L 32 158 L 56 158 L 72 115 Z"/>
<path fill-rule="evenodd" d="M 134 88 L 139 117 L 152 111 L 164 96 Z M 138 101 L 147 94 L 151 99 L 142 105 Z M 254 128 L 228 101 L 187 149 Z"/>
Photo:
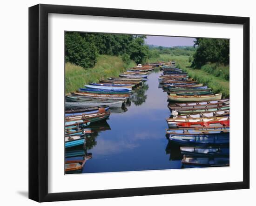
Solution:
<path fill-rule="evenodd" d="M 229 166 L 229 39 L 64 35 L 65 174 Z"/>

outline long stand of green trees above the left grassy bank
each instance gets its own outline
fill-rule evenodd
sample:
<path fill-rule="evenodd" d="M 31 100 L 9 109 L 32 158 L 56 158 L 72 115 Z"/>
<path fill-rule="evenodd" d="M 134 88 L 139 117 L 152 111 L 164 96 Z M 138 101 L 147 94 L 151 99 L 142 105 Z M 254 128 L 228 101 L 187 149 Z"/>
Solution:
<path fill-rule="evenodd" d="M 98 54 L 121 56 L 128 63 L 145 63 L 148 47 L 144 35 L 109 33 L 65 33 L 65 60 L 84 68 L 97 62 Z"/>

